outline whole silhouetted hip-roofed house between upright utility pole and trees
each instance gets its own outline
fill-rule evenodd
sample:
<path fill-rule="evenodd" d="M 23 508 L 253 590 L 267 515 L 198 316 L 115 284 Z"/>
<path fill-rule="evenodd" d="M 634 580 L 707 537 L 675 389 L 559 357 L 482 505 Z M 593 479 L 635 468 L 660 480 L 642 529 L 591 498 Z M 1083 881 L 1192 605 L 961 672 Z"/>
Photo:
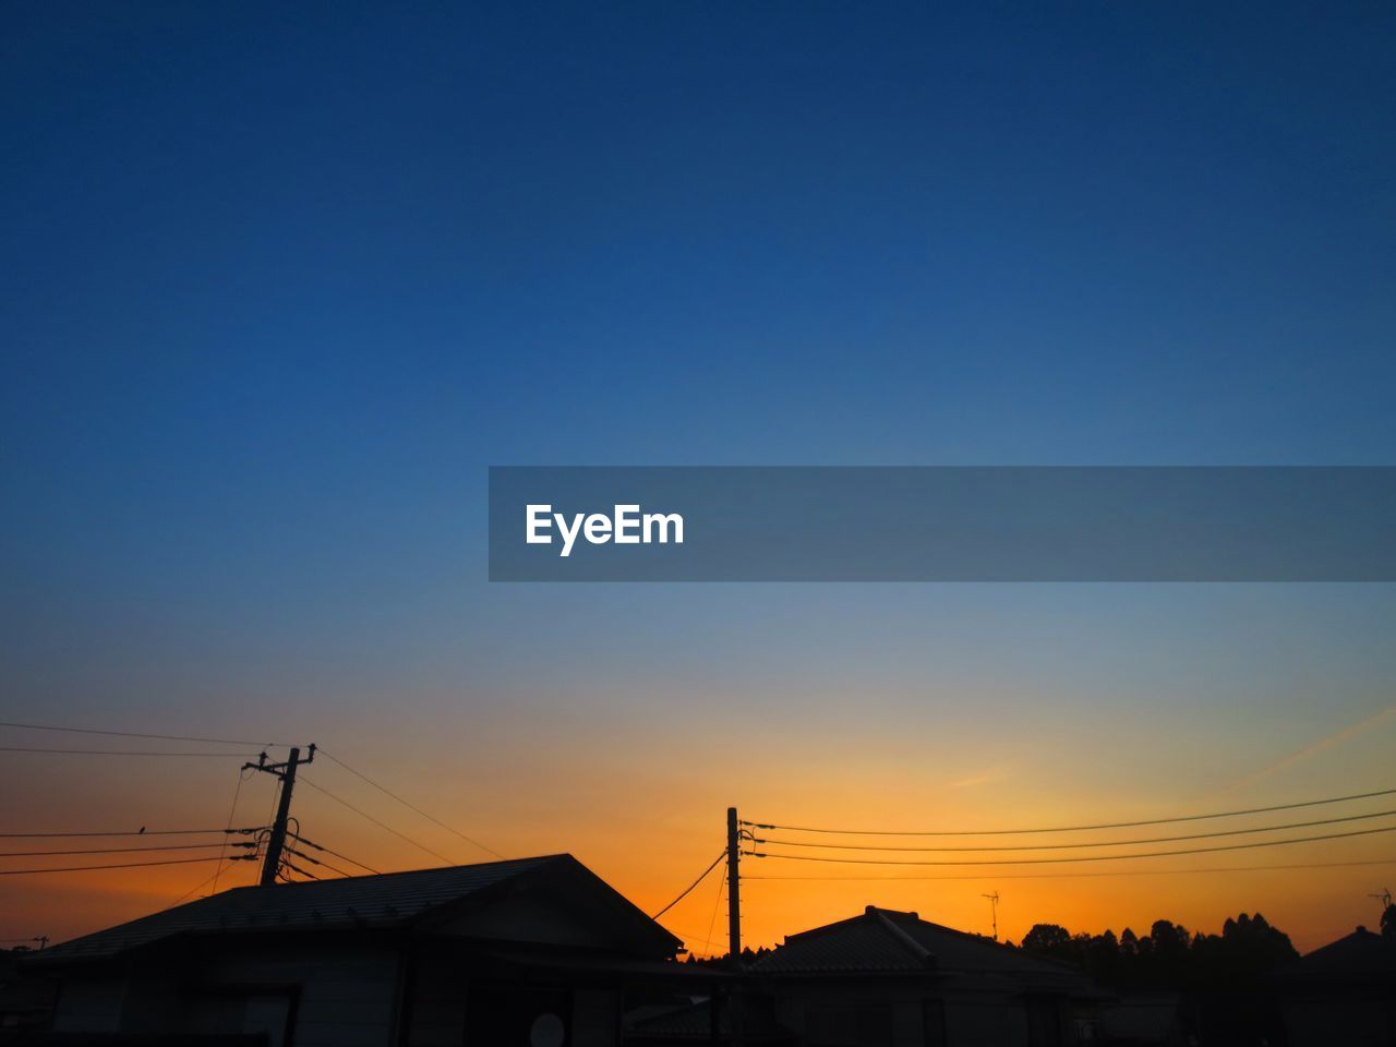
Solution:
<path fill-rule="evenodd" d="M 875 906 L 790 935 L 751 974 L 754 1008 L 810 1047 L 1093 1043 L 1108 1000 L 1065 963 Z"/>

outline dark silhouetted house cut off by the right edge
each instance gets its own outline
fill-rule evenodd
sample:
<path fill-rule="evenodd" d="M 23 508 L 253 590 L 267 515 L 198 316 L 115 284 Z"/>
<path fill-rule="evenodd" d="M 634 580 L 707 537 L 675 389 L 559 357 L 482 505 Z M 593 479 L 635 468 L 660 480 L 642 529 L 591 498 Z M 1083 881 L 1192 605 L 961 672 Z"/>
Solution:
<path fill-rule="evenodd" d="M 1272 976 L 1290 1047 L 1396 1044 L 1396 938 L 1358 927 Z"/>

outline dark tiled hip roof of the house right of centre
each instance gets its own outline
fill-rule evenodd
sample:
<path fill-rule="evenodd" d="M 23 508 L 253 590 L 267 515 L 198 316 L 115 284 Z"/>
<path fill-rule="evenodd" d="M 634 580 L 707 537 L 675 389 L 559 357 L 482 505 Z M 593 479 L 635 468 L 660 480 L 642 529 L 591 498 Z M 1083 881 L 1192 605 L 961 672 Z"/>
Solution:
<path fill-rule="evenodd" d="M 1030 991 L 1100 995 L 1075 967 L 1032 956 L 916 913 L 868 906 L 860 916 L 801 934 L 752 967 L 761 974 L 934 974 L 1016 984 Z"/>

